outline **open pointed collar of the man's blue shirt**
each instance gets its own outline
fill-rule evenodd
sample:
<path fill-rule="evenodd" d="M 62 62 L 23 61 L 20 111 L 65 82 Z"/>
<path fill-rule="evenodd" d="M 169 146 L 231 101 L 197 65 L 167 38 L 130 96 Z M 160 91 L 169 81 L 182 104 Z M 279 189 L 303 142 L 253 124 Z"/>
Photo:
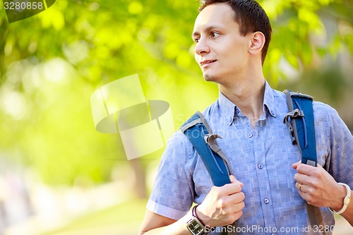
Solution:
<path fill-rule="evenodd" d="M 237 105 L 233 104 L 230 100 L 228 100 L 228 98 L 225 97 L 222 92 L 220 92 L 219 94 L 218 105 L 220 106 L 222 116 L 225 116 L 225 119 L 227 123 L 229 123 L 229 126 L 232 125 L 234 117 L 241 114 Z M 263 97 L 263 113 L 265 114 L 265 116 L 267 116 L 267 114 L 270 114 L 271 116 L 276 117 L 273 90 L 266 80 L 265 93 Z"/>

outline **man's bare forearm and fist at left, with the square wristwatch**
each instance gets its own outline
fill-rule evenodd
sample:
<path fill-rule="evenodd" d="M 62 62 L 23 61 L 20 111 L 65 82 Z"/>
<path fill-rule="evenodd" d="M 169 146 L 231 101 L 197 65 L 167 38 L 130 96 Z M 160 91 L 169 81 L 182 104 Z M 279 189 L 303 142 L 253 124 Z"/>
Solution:
<path fill-rule="evenodd" d="M 147 210 L 143 224 L 138 235 L 168 234 L 168 235 L 190 235 L 187 228 L 188 222 L 191 229 L 197 229 L 195 224 L 205 224 L 205 230 L 210 227 L 218 227 L 232 224 L 241 217 L 244 209 L 245 195 L 241 192 L 243 183 L 237 181 L 234 176 L 229 177 L 232 183 L 222 187 L 213 187 L 206 195 L 200 207 L 193 207 L 184 217 L 174 220 L 169 217 L 157 215 Z M 191 219 L 194 219 L 191 221 Z M 193 228 L 193 226 L 195 226 Z"/>

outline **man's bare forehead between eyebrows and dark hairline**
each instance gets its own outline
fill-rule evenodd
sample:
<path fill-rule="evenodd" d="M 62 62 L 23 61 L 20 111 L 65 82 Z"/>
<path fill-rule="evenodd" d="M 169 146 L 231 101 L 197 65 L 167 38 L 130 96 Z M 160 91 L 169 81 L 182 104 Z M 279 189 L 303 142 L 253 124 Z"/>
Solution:
<path fill-rule="evenodd" d="M 222 28 L 238 25 L 234 20 L 234 11 L 228 4 L 212 4 L 206 6 L 195 20 L 194 32 L 200 32 L 210 25 Z"/>

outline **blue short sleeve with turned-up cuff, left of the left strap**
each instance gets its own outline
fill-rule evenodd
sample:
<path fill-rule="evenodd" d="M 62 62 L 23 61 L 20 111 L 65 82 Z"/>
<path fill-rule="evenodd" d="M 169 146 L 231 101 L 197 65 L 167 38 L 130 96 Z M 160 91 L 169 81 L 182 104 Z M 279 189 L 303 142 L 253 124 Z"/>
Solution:
<path fill-rule="evenodd" d="M 177 131 L 164 150 L 147 209 L 171 219 L 180 219 L 193 203 L 193 180 L 187 169 L 193 146 Z"/>

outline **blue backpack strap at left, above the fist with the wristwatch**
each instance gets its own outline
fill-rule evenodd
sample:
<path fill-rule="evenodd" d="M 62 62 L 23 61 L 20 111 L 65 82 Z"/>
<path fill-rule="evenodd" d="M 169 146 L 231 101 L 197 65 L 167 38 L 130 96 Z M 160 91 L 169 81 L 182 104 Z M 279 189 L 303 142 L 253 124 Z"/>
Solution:
<path fill-rule="evenodd" d="M 216 141 L 221 137 L 211 131 L 201 112 L 193 114 L 180 130 L 189 138 L 200 155 L 213 184 L 223 186 L 230 183 L 229 175 L 233 174 L 232 167 Z"/>

